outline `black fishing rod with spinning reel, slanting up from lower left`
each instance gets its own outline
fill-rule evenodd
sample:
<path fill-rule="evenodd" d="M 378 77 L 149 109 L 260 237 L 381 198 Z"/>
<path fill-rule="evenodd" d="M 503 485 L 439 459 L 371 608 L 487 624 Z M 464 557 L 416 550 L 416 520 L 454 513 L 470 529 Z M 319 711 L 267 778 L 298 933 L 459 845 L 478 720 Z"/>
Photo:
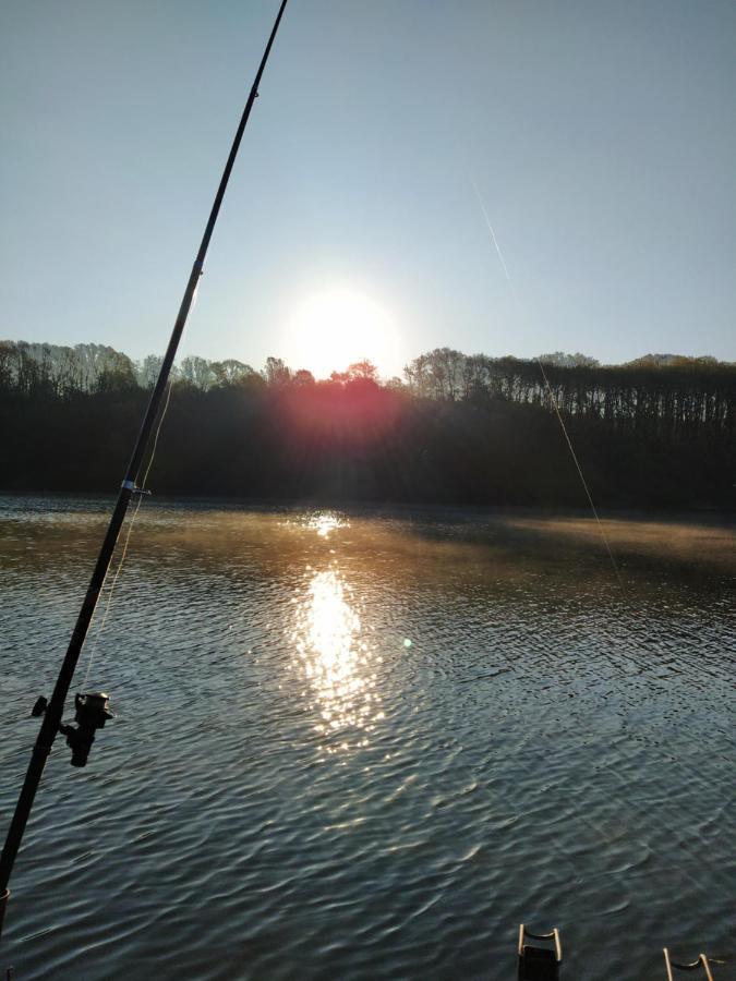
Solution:
<path fill-rule="evenodd" d="M 141 431 L 135 440 L 133 453 L 120 486 L 118 500 L 114 510 L 112 511 L 112 517 L 110 518 L 110 523 L 102 541 L 84 602 L 82 603 L 82 609 L 80 610 L 74 630 L 72 631 L 69 647 L 67 649 L 67 654 L 64 655 L 57 683 L 53 687 L 51 699 L 47 702 L 45 698 L 39 698 L 32 711 L 32 715 L 36 717 L 43 716 L 44 720 L 41 722 L 40 730 L 33 748 L 31 763 L 26 771 L 23 787 L 21 788 L 21 794 L 15 806 L 15 812 L 8 831 L 8 837 L 5 838 L 5 844 L 2 849 L 2 856 L 0 857 L 0 935 L 2 933 L 2 922 L 8 907 L 8 899 L 10 898 L 8 883 L 10 882 L 15 858 L 21 847 L 21 841 L 23 840 L 23 833 L 31 815 L 36 790 L 38 789 L 46 761 L 51 752 L 53 740 L 59 732 L 64 735 L 67 737 L 67 742 L 72 750 L 72 765 L 85 766 L 92 743 L 95 740 L 95 732 L 97 729 L 100 729 L 109 718 L 112 718 L 107 693 L 88 692 L 85 694 L 77 694 L 74 699 L 76 712 L 74 720 L 76 726 L 64 725 L 61 720 L 64 711 L 64 702 L 74 676 L 74 669 L 76 668 L 76 663 L 80 658 L 80 653 L 84 645 L 87 630 L 89 629 L 89 623 L 92 622 L 95 607 L 97 606 L 97 601 L 99 600 L 99 594 L 110 567 L 110 561 L 112 560 L 112 554 L 118 542 L 120 529 L 125 520 L 128 506 L 134 495 L 144 493 L 143 488 L 138 487 L 136 484 L 143 458 L 150 439 L 154 424 L 162 405 L 173 359 L 176 358 L 179 341 L 181 340 L 184 327 L 186 326 L 186 318 L 189 317 L 192 304 L 194 303 L 200 277 L 204 272 L 204 263 L 207 256 L 209 241 L 215 230 L 217 216 L 219 215 L 222 198 L 225 197 L 228 181 L 230 180 L 230 173 L 232 172 L 232 167 L 236 162 L 236 157 L 238 156 L 238 149 L 240 148 L 240 142 L 243 138 L 243 132 L 245 131 L 251 109 L 258 97 L 261 77 L 266 68 L 266 62 L 268 61 L 270 49 L 276 39 L 276 34 L 279 24 L 281 23 L 286 5 L 287 0 L 281 0 L 276 21 L 274 22 L 268 43 L 266 44 L 261 64 L 258 65 L 258 71 L 256 72 L 255 80 L 251 86 L 251 92 L 248 101 L 245 102 L 240 124 L 236 131 L 234 140 L 232 141 L 232 146 L 230 148 L 230 155 L 225 165 L 217 194 L 215 195 L 215 202 L 202 237 L 202 243 L 200 244 L 194 265 L 192 266 L 192 271 L 190 272 L 186 289 L 184 290 L 184 296 L 181 301 L 181 306 L 179 307 L 173 330 L 171 331 L 169 346 L 164 355 L 158 379 L 150 395 L 145 415 L 143 416 Z"/>

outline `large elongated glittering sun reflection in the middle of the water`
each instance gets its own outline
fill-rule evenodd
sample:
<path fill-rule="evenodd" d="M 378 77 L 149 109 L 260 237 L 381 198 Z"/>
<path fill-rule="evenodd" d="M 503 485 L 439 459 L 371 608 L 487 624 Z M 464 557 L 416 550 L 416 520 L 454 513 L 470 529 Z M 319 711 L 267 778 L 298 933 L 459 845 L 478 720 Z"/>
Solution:
<path fill-rule="evenodd" d="M 314 729 L 328 753 L 367 746 L 384 717 L 376 694 L 375 656 L 362 637 L 352 591 L 336 568 L 311 576 L 297 601 L 292 640 L 299 664 L 315 695 Z"/>

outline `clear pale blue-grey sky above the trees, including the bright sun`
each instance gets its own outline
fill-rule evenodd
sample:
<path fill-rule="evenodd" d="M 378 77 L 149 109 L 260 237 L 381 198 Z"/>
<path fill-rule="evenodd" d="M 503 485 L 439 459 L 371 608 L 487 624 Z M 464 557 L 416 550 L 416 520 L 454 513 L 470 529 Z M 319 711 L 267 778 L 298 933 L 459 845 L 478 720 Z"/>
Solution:
<path fill-rule="evenodd" d="M 4 0 L 0 337 L 162 352 L 277 7 Z M 290 0 L 181 353 L 736 360 L 735 219 L 732 0 Z"/>

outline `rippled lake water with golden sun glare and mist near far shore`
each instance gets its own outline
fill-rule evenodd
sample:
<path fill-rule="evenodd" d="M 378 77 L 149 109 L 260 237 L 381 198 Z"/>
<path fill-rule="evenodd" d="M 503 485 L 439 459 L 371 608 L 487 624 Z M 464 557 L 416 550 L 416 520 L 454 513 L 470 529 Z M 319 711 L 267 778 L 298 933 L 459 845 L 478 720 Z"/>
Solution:
<path fill-rule="evenodd" d="M 109 508 L 0 498 L 3 835 Z M 736 978 L 736 536 L 606 528 L 623 586 L 584 518 L 146 502 L 2 965 L 511 979 L 523 921 L 570 979 Z"/>

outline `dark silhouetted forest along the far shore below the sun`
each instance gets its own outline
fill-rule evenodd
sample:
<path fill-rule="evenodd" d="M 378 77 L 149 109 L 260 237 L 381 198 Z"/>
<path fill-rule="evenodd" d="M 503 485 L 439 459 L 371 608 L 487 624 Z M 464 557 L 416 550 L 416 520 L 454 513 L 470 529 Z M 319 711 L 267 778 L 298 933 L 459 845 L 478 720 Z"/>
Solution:
<path fill-rule="evenodd" d="M 160 359 L 0 341 L 0 491 L 114 492 Z M 736 364 L 645 355 L 467 355 L 403 378 L 369 361 L 316 380 L 269 358 L 185 358 L 149 486 L 161 495 L 584 507 L 732 508 Z"/>

